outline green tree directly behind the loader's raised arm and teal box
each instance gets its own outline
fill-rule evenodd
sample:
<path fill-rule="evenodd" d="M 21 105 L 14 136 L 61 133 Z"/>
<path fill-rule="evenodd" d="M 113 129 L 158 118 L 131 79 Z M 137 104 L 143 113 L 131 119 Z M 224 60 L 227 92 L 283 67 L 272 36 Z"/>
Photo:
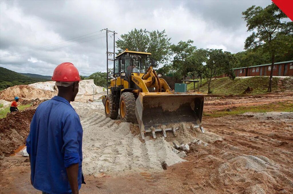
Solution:
<path fill-rule="evenodd" d="M 180 41 L 177 45 L 171 45 L 171 51 L 175 55 L 172 61 L 173 68 L 176 69 L 181 75 L 186 75 L 192 70 L 192 62 L 190 60 L 191 54 L 196 50 L 195 46 L 192 46 L 192 40 L 186 42 Z"/>

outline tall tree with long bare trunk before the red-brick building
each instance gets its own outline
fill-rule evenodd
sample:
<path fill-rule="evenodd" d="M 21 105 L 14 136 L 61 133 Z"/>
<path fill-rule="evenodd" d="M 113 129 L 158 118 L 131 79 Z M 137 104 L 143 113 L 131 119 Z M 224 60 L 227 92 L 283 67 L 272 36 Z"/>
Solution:
<path fill-rule="evenodd" d="M 287 16 L 274 3 L 265 8 L 253 5 L 242 14 L 247 31 L 252 31 L 246 38 L 245 49 L 262 46 L 270 53 L 273 69 L 275 56 L 292 47 L 293 22 L 284 20 Z M 272 75 L 273 71 L 270 73 L 268 92 L 272 90 Z"/>

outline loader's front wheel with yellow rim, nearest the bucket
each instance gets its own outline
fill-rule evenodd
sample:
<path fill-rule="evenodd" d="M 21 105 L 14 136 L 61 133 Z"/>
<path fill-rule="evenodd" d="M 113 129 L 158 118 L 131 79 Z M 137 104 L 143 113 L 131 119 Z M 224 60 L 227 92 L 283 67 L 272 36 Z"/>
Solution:
<path fill-rule="evenodd" d="M 124 92 L 120 97 L 120 118 L 126 122 L 136 122 L 135 97 L 131 92 Z"/>

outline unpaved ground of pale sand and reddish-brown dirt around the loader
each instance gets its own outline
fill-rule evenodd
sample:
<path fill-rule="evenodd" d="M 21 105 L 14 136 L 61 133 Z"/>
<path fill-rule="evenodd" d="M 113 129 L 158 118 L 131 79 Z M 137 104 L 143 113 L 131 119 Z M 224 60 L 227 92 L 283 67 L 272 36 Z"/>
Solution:
<path fill-rule="evenodd" d="M 253 100 L 237 97 L 236 103 L 231 98 L 220 100 L 231 103 L 227 106 L 292 101 L 290 93 L 284 95 L 260 95 Z M 217 100 L 205 102 L 211 108 L 221 107 Z M 83 169 L 88 174 L 81 193 L 293 192 L 293 113 L 203 118 L 203 126 L 211 133 L 206 133 L 206 137 L 192 135 L 205 138 L 209 145 L 191 145 L 186 162 L 168 165 L 163 170 L 160 161 L 174 159 L 161 157 L 161 148 L 164 153 L 168 148 L 165 141 L 142 143 L 129 133 L 128 123 L 105 119 L 99 103 L 78 102 L 74 107 L 84 128 Z M 171 141 L 172 134 L 167 136 L 166 140 Z M 149 170 L 151 160 L 156 162 L 153 170 Z M 0 161 L 0 193 L 38 193 L 30 185 L 26 158 L 16 155 Z"/>

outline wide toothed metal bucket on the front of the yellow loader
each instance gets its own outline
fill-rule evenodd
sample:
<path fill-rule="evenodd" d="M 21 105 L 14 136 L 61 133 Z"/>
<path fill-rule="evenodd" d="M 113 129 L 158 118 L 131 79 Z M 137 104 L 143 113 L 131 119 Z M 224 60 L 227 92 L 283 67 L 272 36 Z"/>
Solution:
<path fill-rule="evenodd" d="M 135 115 L 144 139 L 144 133 L 173 130 L 176 123 L 193 123 L 201 127 L 204 95 L 191 92 L 146 92 L 139 93 L 136 100 Z"/>

